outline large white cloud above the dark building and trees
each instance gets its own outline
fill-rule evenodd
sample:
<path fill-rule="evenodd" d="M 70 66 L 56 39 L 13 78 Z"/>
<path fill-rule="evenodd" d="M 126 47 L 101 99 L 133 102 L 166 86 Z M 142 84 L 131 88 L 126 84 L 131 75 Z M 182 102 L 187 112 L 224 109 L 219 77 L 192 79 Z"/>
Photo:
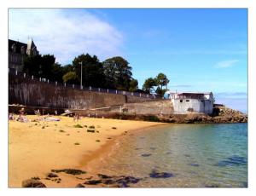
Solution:
<path fill-rule="evenodd" d="M 28 36 L 63 64 L 83 53 L 101 61 L 121 55 L 123 43 L 121 32 L 85 9 L 9 9 L 9 38 L 26 43 Z"/>

